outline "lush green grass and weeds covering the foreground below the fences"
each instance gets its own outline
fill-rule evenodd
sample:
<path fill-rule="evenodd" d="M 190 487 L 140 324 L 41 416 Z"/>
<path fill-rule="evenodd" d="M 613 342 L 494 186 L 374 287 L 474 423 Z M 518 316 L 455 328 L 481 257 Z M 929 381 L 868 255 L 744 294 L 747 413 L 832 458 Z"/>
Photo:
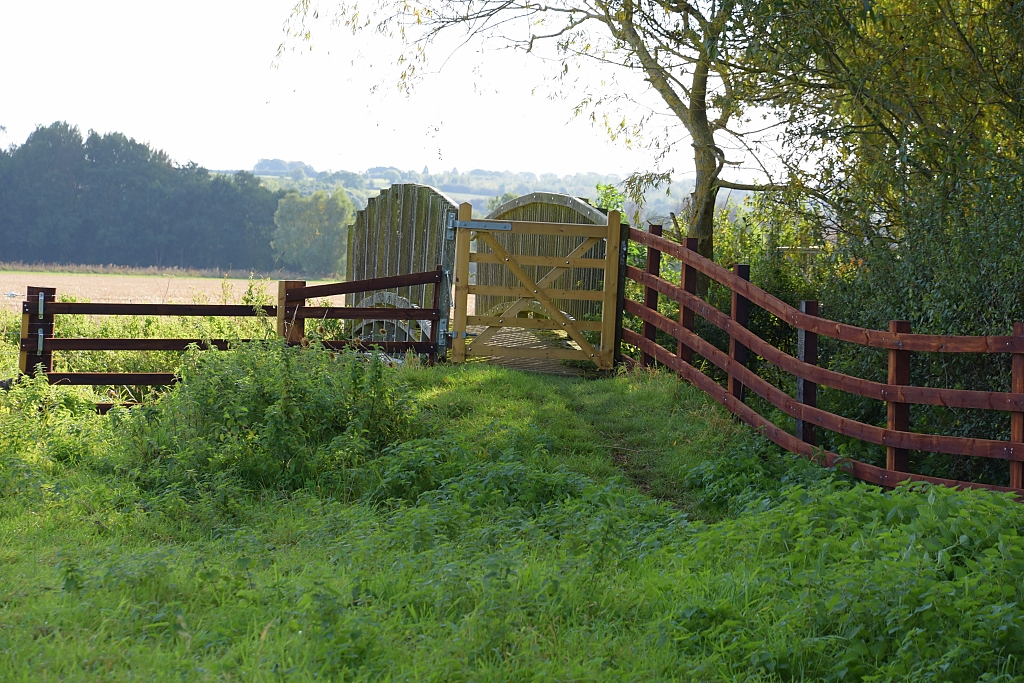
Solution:
<path fill-rule="evenodd" d="M 1022 674 L 1006 498 L 836 479 L 667 374 L 184 364 L 0 396 L 0 680 Z"/>

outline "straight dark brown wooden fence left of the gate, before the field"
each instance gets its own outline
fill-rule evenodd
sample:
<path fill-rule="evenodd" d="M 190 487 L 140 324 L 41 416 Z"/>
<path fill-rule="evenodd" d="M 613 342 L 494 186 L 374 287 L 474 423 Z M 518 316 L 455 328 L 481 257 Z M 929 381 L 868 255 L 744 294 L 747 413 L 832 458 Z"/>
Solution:
<path fill-rule="evenodd" d="M 315 319 L 373 319 L 373 321 L 431 321 L 429 339 L 426 341 L 367 342 L 358 339 L 325 341 L 331 348 L 356 347 L 381 348 L 386 352 L 414 351 L 426 354 L 433 361 L 438 349 L 438 326 L 441 312 L 438 308 L 441 269 L 416 272 L 394 278 L 379 278 L 352 283 L 316 285 L 306 287 L 303 281 L 279 284 L 276 306 L 208 305 L 208 304 L 148 304 L 148 303 L 68 303 L 58 302 L 56 290 L 30 287 L 22 305 L 22 339 L 19 369 L 24 375 L 33 376 L 41 368 L 51 384 L 72 385 L 131 385 L 159 386 L 173 384 L 173 373 L 55 373 L 54 351 L 181 351 L 196 344 L 200 347 L 227 348 L 225 339 L 117 339 L 117 338 L 59 338 L 53 336 L 55 315 L 174 315 L 202 317 L 256 317 L 276 318 L 278 333 L 290 343 L 301 343 L 305 336 L 305 321 Z M 307 299 L 327 297 L 350 292 L 372 292 L 415 285 L 433 285 L 432 308 L 356 308 L 342 306 L 306 306 Z M 445 311 L 446 314 L 447 311 Z M 100 410 L 109 408 L 103 403 Z"/>

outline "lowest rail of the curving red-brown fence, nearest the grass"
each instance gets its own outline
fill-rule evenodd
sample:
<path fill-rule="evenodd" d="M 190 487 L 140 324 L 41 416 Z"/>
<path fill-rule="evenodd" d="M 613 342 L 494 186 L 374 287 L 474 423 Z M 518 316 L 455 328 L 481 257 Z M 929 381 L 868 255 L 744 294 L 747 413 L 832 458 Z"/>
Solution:
<path fill-rule="evenodd" d="M 911 474 L 909 472 L 890 472 L 884 468 L 876 467 L 874 465 L 868 465 L 866 463 L 861 463 L 848 458 L 841 458 L 835 453 L 822 451 L 821 449 L 814 447 L 809 443 L 805 443 L 792 434 L 779 429 L 773 423 L 759 415 L 756 411 L 754 411 L 754 409 L 750 408 L 745 403 L 737 401 L 727 389 L 719 386 L 713 379 L 701 373 L 699 370 L 689 364 L 683 362 L 678 356 L 673 355 L 668 349 L 662 348 L 657 344 L 644 339 L 632 330 L 623 330 L 623 341 L 640 347 L 641 350 L 646 350 L 652 353 L 658 362 L 662 362 L 679 372 L 683 379 L 693 383 L 694 386 L 721 403 L 737 418 L 754 427 L 786 451 L 804 456 L 805 458 L 821 463 L 826 467 L 836 467 L 848 472 L 858 479 L 889 487 L 896 486 L 903 481 L 924 481 L 944 486 L 953 486 L 956 488 L 985 488 L 987 490 L 1017 494 L 1018 500 L 1020 500 L 1021 495 L 1024 494 L 1024 490 L 1020 488 L 1012 488 L 1009 486 L 995 486 L 991 484 L 975 483 L 972 481 L 942 479 L 939 477 L 925 476 L 923 474 Z"/>

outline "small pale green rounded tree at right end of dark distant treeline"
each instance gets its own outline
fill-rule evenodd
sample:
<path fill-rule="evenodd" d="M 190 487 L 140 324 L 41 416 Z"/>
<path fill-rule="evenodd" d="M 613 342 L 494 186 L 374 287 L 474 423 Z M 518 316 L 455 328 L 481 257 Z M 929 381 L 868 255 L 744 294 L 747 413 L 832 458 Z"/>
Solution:
<path fill-rule="evenodd" d="M 345 237 L 355 214 L 344 190 L 300 197 L 289 193 L 278 203 L 271 247 L 289 265 L 304 272 L 339 272 L 345 255 Z"/>

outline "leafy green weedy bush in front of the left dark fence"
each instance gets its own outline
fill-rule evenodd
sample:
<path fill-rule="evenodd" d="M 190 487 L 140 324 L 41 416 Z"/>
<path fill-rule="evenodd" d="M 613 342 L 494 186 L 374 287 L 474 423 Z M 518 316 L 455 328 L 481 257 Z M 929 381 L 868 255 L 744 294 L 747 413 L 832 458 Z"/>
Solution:
<path fill-rule="evenodd" d="M 412 434 L 415 407 L 379 354 L 280 341 L 185 356 L 152 405 L 113 412 L 146 486 L 227 475 L 249 489 L 339 484 L 332 473 Z"/>

